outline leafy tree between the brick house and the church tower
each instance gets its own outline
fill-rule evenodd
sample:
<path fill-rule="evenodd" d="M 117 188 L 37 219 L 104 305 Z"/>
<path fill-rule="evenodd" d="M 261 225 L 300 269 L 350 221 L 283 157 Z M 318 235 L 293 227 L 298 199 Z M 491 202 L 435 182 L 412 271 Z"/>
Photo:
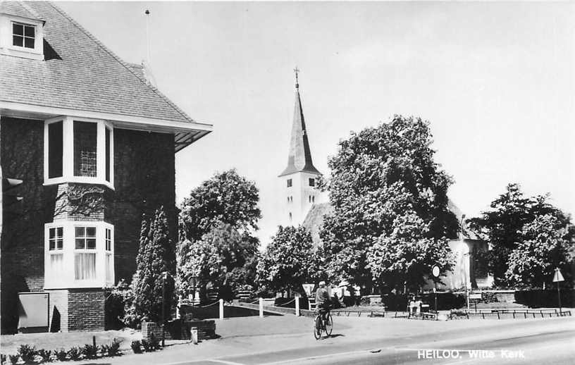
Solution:
<path fill-rule="evenodd" d="M 235 169 L 216 173 L 190 192 L 180 211 L 181 294 L 190 292 L 190 276 L 198 278 L 202 292 L 208 283 L 232 291 L 254 283 L 259 246 L 254 231 L 261 218 L 258 202 L 254 182 Z"/>

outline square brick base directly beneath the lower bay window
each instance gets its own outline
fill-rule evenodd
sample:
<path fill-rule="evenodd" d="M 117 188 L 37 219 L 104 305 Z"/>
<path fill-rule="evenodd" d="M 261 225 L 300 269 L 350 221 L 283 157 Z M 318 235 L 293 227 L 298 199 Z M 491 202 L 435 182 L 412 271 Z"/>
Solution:
<path fill-rule="evenodd" d="M 102 289 L 68 290 L 68 331 L 104 330 L 104 302 Z"/>

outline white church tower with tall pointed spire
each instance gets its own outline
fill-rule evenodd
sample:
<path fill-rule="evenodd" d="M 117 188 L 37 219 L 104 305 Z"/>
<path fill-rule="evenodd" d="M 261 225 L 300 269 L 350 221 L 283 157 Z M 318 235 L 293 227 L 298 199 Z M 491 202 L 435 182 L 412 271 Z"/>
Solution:
<path fill-rule="evenodd" d="M 311 161 L 309 140 L 299 97 L 299 70 L 295 68 L 295 110 L 290 139 L 290 151 L 287 155 L 287 167 L 280 173 L 280 224 L 297 226 L 302 224 L 311 206 L 319 199 L 317 178 L 321 173 Z"/>

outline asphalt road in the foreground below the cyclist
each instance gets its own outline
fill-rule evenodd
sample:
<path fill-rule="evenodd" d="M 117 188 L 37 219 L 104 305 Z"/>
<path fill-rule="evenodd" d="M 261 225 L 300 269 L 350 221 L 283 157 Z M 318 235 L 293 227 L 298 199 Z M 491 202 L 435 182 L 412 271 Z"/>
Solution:
<path fill-rule="evenodd" d="M 574 364 L 574 319 L 493 321 L 493 326 L 471 330 L 359 341 L 334 332 L 316 343 L 310 338 L 301 348 L 169 364 Z"/>

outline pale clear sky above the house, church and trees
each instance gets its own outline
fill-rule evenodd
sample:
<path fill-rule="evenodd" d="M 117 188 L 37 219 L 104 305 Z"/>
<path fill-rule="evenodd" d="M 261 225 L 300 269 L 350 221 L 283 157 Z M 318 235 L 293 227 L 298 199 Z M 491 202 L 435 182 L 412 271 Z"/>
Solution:
<path fill-rule="evenodd" d="M 297 66 L 314 165 L 394 114 L 429 120 L 449 196 L 477 216 L 510 182 L 575 213 L 575 3 L 58 2 L 214 132 L 176 154 L 176 196 L 236 168 L 278 222 Z M 281 199 L 280 199 L 281 198 Z"/>

